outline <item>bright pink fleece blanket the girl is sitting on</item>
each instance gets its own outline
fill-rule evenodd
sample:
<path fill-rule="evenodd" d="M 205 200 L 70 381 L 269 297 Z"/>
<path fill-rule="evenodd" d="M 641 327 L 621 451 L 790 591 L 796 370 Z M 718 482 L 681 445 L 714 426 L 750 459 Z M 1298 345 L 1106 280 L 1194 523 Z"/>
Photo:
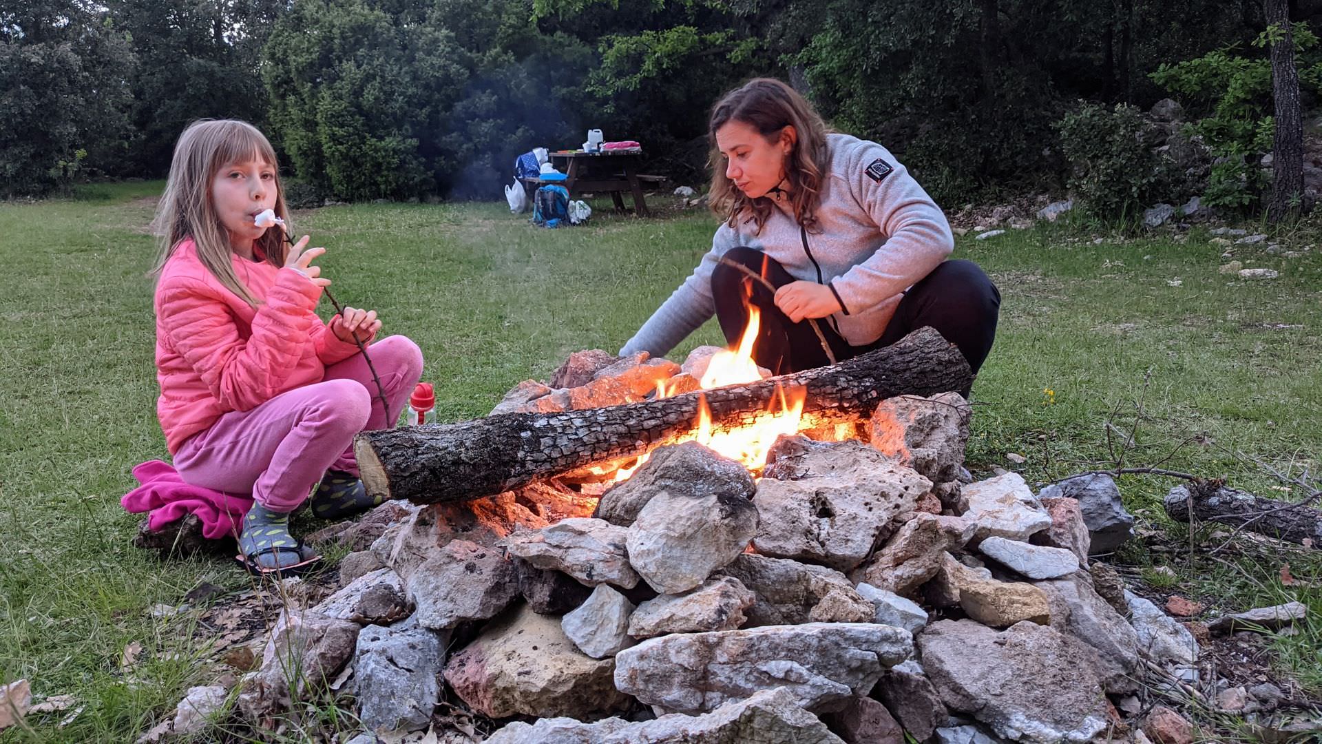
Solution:
<path fill-rule="evenodd" d="M 147 526 L 152 532 L 196 514 L 202 520 L 202 536 L 210 540 L 238 536 L 243 528 L 243 515 L 253 508 L 249 494 L 226 494 L 184 482 L 178 471 L 168 463 L 152 459 L 134 467 L 134 478 L 141 486 L 124 494 L 119 503 L 134 514 L 149 512 Z"/>

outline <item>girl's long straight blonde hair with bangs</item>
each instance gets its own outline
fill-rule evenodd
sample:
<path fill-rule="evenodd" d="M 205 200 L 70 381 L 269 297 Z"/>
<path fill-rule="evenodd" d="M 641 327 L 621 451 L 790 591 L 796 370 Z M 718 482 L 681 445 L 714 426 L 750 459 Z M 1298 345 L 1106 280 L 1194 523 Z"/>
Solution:
<path fill-rule="evenodd" d="M 197 258 L 225 289 L 256 306 L 243 282 L 230 263 L 230 236 L 221 224 L 212 203 L 212 183 L 215 173 L 230 163 L 264 160 L 275 169 L 275 216 L 284 220 L 286 229 L 292 230 L 290 212 L 284 207 L 284 189 L 280 188 L 280 168 L 275 160 L 275 148 L 256 127 L 237 119 L 201 119 L 193 122 L 178 135 L 175 144 L 175 158 L 169 165 L 169 180 L 165 193 L 156 207 L 152 229 L 160 238 L 160 256 L 152 273 L 160 275 L 165 262 L 185 238 L 193 238 Z M 254 252 L 272 266 L 284 265 L 284 233 L 279 225 L 270 228 L 253 245 Z"/>

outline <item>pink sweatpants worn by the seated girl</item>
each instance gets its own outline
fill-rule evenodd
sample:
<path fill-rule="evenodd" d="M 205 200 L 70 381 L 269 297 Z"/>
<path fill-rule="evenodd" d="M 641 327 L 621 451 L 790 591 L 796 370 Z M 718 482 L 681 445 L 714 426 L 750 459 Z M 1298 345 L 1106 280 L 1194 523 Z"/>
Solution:
<path fill-rule="evenodd" d="M 308 498 L 327 469 L 358 474 L 353 436 L 398 421 L 422 377 L 422 351 L 405 336 L 368 347 L 386 391 L 361 353 L 327 367 L 325 379 L 234 410 L 190 437 L 175 454 L 184 482 L 231 494 L 250 492 L 271 511 L 290 512 Z"/>

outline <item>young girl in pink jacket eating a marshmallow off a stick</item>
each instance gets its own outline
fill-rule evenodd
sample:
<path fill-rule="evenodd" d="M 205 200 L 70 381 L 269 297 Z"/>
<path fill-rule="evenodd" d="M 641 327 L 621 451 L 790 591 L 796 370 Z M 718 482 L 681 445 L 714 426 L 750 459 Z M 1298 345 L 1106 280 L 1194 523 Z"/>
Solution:
<path fill-rule="evenodd" d="M 239 549 L 263 573 L 315 560 L 288 528 L 304 500 L 332 519 L 375 503 L 358 479 L 353 436 L 398 420 L 422 376 L 415 343 L 374 342 L 375 311 L 317 318 L 330 279 L 312 261 L 325 249 L 307 248 L 308 236 L 291 246 L 282 226 L 258 226 L 268 209 L 288 229 L 262 132 L 238 120 L 184 131 L 156 213 L 156 412 L 185 483 L 253 494 Z M 356 336 L 371 344 L 386 410 Z"/>

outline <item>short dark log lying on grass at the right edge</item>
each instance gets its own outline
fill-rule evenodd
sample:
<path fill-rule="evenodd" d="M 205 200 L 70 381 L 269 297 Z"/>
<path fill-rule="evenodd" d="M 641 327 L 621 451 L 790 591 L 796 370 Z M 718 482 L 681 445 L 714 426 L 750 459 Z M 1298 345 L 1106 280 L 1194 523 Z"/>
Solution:
<path fill-rule="evenodd" d="M 1229 524 L 1301 545 L 1322 548 L 1322 512 L 1306 504 L 1264 499 L 1220 481 L 1177 486 L 1163 502 L 1171 519 Z M 1307 543 L 1305 543 L 1307 540 Z"/>

